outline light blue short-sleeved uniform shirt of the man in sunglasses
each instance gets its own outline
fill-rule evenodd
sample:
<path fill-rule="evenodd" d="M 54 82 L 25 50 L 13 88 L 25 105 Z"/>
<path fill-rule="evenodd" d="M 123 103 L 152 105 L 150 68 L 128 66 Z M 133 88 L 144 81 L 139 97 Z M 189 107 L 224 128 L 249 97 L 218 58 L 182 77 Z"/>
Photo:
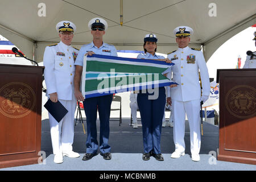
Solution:
<path fill-rule="evenodd" d="M 84 64 L 84 55 L 87 52 L 93 51 L 97 55 L 107 55 L 107 56 L 117 56 L 117 49 L 109 44 L 103 42 L 100 48 L 94 46 L 94 43 L 83 45 L 76 57 L 75 65 L 83 66 Z"/>

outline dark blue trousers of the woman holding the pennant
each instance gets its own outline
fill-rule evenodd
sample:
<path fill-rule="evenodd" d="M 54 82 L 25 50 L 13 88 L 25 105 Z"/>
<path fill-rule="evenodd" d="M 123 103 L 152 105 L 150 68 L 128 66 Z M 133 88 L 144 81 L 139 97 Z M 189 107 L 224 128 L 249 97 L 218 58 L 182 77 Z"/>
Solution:
<path fill-rule="evenodd" d="M 147 93 L 138 93 L 137 102 L 141 113 L 144 153 L 161 154 L 160 139 L 162 132 L 163 114 L 166 104 L 166 90 L 159 88 L 156 100 L 148 100 Z"/>

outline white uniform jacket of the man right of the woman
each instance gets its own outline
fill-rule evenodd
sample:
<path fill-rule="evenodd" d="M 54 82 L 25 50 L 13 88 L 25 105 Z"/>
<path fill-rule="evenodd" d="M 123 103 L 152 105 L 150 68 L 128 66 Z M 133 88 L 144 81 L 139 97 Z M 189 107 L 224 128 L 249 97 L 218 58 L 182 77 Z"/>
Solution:
<path fill-rule="evenodd" d="M 176 101 L 200 100 L 201 88 L 199 82 L 199 69 L 203 86 L 203 95 L 210 94 L 210 81 L 207 65 L 203 53 L 193 50 L 189 47 L 178 48 L 177 51 L 167 56 L 172 60 L 173 65 L 170 69 L 172 72 L 172 81 L 177 85 L 174 88 L 168 87 L 167 97 Z M 171 74 L 167 75 L 171 78 Z"/>

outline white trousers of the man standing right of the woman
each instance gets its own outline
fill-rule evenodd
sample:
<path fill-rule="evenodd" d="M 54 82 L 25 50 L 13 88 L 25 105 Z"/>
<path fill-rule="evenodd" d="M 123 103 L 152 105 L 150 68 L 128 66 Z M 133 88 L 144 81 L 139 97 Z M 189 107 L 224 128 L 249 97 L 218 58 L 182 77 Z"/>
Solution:
<path fill-rule="evenodd" d="M 200 135 L 200 100 L 193 101 L 175 101 L 172 100 L 172 111 L 174 113 L 174 143 L 175 150 L 185 151 L 185 113 L 187 113 L 191 154 L 199 154 L 201 146 Z"/>

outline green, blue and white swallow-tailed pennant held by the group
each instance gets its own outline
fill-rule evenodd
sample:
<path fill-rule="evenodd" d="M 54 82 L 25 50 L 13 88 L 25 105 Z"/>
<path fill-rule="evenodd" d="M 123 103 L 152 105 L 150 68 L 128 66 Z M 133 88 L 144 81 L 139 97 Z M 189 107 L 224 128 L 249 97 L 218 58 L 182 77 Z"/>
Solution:
<path fill-rule="evenodd" d="M 172 65 L 158 60 L 84 56 L 81 92 L 90 98 L 175 84 L 162 75 Z"/>

